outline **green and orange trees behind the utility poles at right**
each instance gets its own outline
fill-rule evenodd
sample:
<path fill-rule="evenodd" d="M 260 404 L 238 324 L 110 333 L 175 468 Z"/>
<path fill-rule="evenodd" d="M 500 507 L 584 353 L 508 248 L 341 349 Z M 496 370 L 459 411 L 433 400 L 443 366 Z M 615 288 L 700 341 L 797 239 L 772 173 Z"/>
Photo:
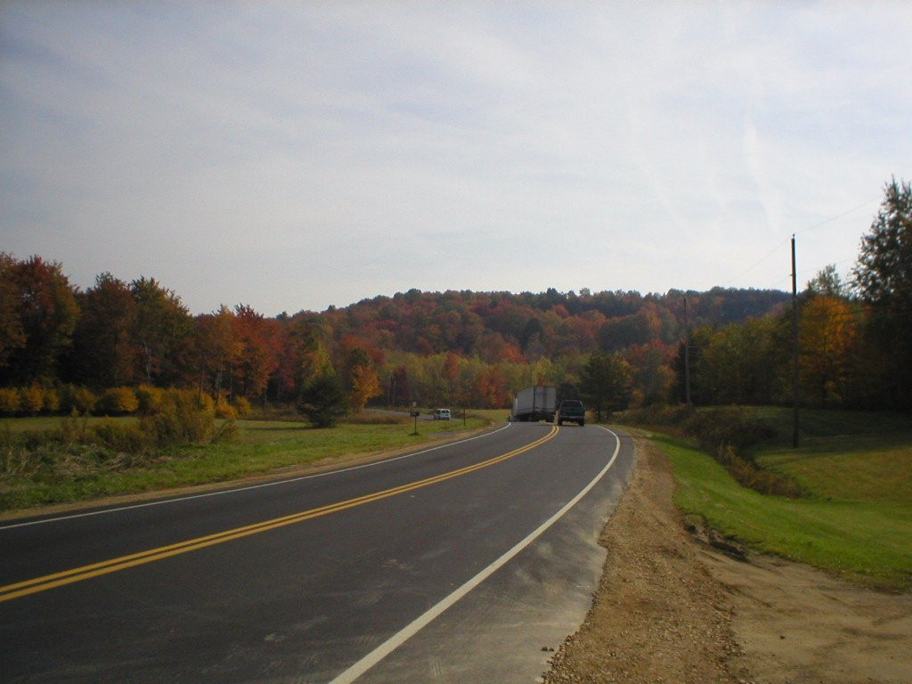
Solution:
<path fill-rule="evenodd" d="M 793 314 L 698 326 L 690 338 L 697 404 L 787 404 Z M 684 349 L 674 360 L 684 396 Z M 829 265 L 798 301 L 799 399 L 814 407 L 912 409 L 912 186 L 893 180 L 844 283 Z"/>

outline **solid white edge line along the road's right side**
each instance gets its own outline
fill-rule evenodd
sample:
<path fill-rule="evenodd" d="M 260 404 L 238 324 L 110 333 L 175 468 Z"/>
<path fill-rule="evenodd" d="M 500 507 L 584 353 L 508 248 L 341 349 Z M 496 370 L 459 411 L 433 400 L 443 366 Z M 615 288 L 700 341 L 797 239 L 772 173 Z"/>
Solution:
<path fill-rule="evenodd" d="M 355 681 L 361 675 L 367 672 L 368 669 L 373 668 L 375 665 L 377 665 L 380 660 L 386 658 L 390 653 L 402 646 L 402 644 L 408 641 L 409 638 L 414 637 L 416 634 L 418 634 L 421 629 L 430 625 L 430 623 L 436 617 L 439 617 L 440 614 L 443 613 L 447 608 L 456 604 L 463 596 L 466 596 L 469 592 L 471 592 L 472 589 L 482 584 L 484 580 L 493 575 L 497 570 L 503 567 L 503 565 L 506 565 L 511 559 L 513 559 L 513 556 L 519 554 L 519 552 L 521 552 L 526 546 L 532 544 L 535 539 L 544 534 L 545 530 L 547 530 L 554 523 L 564 517 L 565 514 L 576 505 L 576 503 L 579 503 L 580 499 L 586 496 L 586 494 L 596 486 L 596 483 L 605 476 L 605 473 L 608 472 L 608 469 L 614 465 L 614 462 L 617 459 L 617 454 L 621 449 L 620 438 L 613 430 L 608 430 L 607 428 L 602 428 L 602 430 L 606 430 L 615 436 L 615 440 L 617 440 L 617 446 L 615 447 L 615 452 L 611 455 L 611 460 L 607 462 L 605 468 L 603 468 L 602 471 L 596 475 L 595 479 L 593 479 L 592 482 L 589 482 L 586 487 L 583 488 L 581 492 L 576 494 L 573 499 L 567 502 L 560 511 L 554 513 L 554 515 L 539 525 L 539 527 L 528 536 L 526 536 L 523 541 L 513 546 L 512 549 L 503 554 L 491 565 L 488 565 L 486 568 L 484 568 L 482 572 L 480 572 L 478 575 L 475 575 L 464 585 L 456 589 L 456 591 L 454 591 L 450 596 L 443 598 L 436 606 L 430 607 L 430 609 L 424 613 L 424 615 L 417 617 L 415 620 L 409 623 L 409 625 L 400 629 L 399 632 L 394 634 L 392 637 L 389 637 L 389 639 L 380 644 L 377 648 L 374 648 L 374 650 L 368 653 L 367 656 L 361 658 L 357 663 L 339 674 L 336 679 L 332 679 L 329 684 L 351 684 L 351 682 Z"/>

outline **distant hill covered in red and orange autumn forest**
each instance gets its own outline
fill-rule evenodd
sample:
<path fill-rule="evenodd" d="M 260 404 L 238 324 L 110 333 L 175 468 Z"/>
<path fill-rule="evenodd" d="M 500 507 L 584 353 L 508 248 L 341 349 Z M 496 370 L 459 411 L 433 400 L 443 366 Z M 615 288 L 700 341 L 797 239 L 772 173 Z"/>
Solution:
<path fill-rule="evenodd" d="M 790 295 L 778 290 L 724 289 L 686 293 L 691 327 L 716 327 L 777 312 Z M 409 290 L 364 299 L 326 312 L 300 312 L 291 321 L 318 321 L 340 339 L 353 335 L 372 347 L 423 355 L 455 352 L 488 362 L 617 351 L 683 335 L 685 293 L 560 293 Z M 284 316 L 280 316 L 282 318 Z"/>

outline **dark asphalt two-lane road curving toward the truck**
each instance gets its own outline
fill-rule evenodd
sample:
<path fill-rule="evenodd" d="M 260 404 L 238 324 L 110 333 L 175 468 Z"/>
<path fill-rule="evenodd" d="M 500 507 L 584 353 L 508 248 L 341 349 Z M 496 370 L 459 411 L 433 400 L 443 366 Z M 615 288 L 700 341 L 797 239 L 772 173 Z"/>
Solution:
<path fill-rule="evenodd" d="M 2 679 L 534 681 L 585 614 L 632 461 L 596 426 L 509 424 L 343 472 L 2 523 Z"/>

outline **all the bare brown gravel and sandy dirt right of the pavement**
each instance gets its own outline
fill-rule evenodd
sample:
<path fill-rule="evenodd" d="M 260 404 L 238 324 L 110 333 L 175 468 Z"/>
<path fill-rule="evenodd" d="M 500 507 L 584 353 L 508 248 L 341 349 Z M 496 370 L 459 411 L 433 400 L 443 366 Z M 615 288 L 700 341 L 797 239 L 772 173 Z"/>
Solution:
<path fill-rule="evenodd" d="M 912 596 L 720 553 L 685 531 L 664 455 L 637 453 L 594 605 L 545 682 L 912 682 Z"/>

